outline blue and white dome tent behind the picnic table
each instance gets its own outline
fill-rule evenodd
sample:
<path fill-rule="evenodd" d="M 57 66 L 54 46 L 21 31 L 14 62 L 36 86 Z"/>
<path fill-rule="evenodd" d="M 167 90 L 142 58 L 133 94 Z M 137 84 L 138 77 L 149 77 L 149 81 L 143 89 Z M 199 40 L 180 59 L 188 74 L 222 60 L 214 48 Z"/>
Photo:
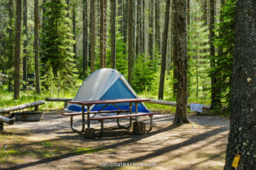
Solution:
<path fill-rule="evenodd" d="M 127 99 L 139 98 L 131 85 L 125 80 L 124 76 L 115 69 L 98 69 L 93 72 L 79 88 L 76 97 L 72 101 L 94 101 L 106 99 Z M 129 103 L 117 103 L 122 110 L 129 110 Z M 95 104 L 91 106 L 91 111 L 99 111 L 104 104 Z M 86 111 L 86 107 L 84 108 Z M 104 110 L 116 110 L 116 107 L 109 104 Z M 68 104 L 65 111 L 74 112 L 82 111 L 81 105 Z M 135 111 L 135 104 L 132 104 L 132 112 Z M 148 113 L 150 112 L 146 106 L 141 103 L 138 104 L 138 111 Z"/>

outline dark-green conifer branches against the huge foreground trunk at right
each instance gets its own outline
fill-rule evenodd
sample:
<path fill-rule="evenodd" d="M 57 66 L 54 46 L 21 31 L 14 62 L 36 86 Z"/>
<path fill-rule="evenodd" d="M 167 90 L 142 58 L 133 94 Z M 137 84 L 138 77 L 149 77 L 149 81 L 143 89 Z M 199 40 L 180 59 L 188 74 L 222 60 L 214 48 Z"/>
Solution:
<path fill-rule="evenodd" d="M 223 110 L 225 113 L 228 113 L 230 110 L 235 12 L 236 0 L 228 0 L 221 8 L 220 18 L 222 18 L 222 22 L 216 24 L 216 32 L 220 32 L 220 34 L 215 37 L 214 45 L 220 46 L 223 49 L 223 52 L 221 55 L 219 53 L 219 55 L 215 57 L 218 64 L 212 67 L 209 72 L 220 80 L 216 83 L 216 89 L 221 90 L 221 104 L 225 108 L 225 110 Z M 221 110 L 217 111 L 219 112 Z"/>

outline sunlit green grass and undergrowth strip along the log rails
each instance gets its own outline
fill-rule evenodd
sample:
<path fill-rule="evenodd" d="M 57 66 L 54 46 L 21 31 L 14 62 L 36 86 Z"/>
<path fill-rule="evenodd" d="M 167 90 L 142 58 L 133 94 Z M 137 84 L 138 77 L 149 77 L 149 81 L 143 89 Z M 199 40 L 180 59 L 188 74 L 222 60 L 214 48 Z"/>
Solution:
<path fill-rule="evenodd" d="M 58 89 L 51 89 L 49 90 L 42 90 L 40 96 L 35 94 L 35 89 L 32 90 L 26 90 L 26 91 L 20 91 L 20 99 L 13 101 L 13 92 L 8 92 L 7 90 L 0 90 L 0 108 L 7 108 L 11 106 L 17 106 L 19 104 L 25 104 L 25 103 L 32 103 L 34 101 L 40 101 L 45 100 L 46 97 L 52 97 L 52 98 L 74 98 L 77 94 L 77 90 L 79 89 L 81 85 L 80 83 L 77 83 L 77 85 L 70 88 L 70 90 L 61 91 Z M 165 101 L 176 101 L 175 98 L 168 97 L 170 94 L 166 92 L 164 94 L 164 100 Z M 157 92 L 156 90 L 152 90 L 152 92 L 148 92 L 147 90 L 145 92 L 141 92 L 138 94 L 140 97 L 149 98 L 149 99 L 157 99 Z M 208 96 L 205 97 L 189 97 L 188 103 L 199 103 L 199 104 L 211 104 L 211 99 Z M 175 113 L 175 106 L 165 106 L 161 104 L 151 104 L 151 103 L 145 103 L 147 108 L 152 111 L 161 111 L 162 113 L 168 112 L 168 113 Z M 64 103 L 63 102 L 45 102 L 44 105 L 41 105 L 39 108 L 40 110 L 52 110 L 52 109 L 63 109 Z M 33 108 L 28 108 L 26 110 L 33 110 Z M 188 110 L 189 111 L 189 110 Z"/>

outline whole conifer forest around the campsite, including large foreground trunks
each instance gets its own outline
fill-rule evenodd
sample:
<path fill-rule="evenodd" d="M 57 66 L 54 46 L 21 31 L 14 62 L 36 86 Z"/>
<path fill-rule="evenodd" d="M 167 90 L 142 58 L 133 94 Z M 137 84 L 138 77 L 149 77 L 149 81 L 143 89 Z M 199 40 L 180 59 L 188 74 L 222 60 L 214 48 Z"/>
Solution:
<path fill-rule="evenodd" d="M 176 102 L 173 125 L 211 105 L 230 120 L 224 169 L 236 155 L 255 169 L 255 28 L 255 0 L 0 0 L 0 108 L 73 98 L 116 69 L 138 96 Z"/>

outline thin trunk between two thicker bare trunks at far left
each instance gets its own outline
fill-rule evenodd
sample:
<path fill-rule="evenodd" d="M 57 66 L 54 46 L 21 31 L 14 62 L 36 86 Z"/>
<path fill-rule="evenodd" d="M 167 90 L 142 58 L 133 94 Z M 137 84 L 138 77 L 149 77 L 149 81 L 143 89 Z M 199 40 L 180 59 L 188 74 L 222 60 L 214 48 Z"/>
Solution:
<path fill-rule="evenodd" d="M 23 0 L 23 26 L 24 35 L 26 39 L 23 42 L 23 80 L 24 82 L 27 81 L 27 60 L 28 60 L 28 53 L 27 53 L 27 45 L 28 45 L 28 4 L 27 0 Z M 26 83 L 23 85 L 23 90 L 26 90 Z"/>

